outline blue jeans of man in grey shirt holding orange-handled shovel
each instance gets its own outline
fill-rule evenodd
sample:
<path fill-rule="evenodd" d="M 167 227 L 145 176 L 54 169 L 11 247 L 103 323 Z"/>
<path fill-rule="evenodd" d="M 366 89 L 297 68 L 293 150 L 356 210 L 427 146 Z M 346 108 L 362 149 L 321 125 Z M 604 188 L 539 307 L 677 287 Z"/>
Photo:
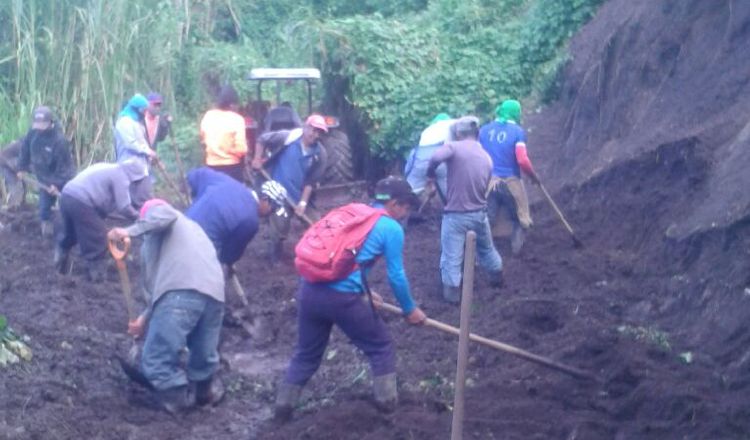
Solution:
<path fill-rule="evenodd" d="M 158 390 L 210 379 L 219 365 L 224 303 L 196 290 L 172 290 L 154 304 L 143 344 L 143 375 Z M 187 347 L 187 374 L 180 351 Z"/>

